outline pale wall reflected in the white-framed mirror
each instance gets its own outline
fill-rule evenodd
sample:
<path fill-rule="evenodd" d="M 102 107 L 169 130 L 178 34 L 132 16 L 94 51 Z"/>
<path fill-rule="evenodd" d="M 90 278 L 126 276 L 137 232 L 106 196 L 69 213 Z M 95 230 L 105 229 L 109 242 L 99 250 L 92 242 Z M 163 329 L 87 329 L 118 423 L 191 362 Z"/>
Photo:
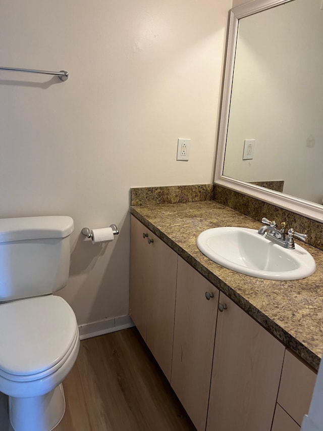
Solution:
<path fill-rule="evenodd" d="M 320 0 L 295 0 L 240 21 L 225 162 L 228 176 L 285 180 L 285 193 L 319 204 L 323 199 L 320 4 Z M 253 138 L 254 158 L 243 161 L 244 139 Z"/>

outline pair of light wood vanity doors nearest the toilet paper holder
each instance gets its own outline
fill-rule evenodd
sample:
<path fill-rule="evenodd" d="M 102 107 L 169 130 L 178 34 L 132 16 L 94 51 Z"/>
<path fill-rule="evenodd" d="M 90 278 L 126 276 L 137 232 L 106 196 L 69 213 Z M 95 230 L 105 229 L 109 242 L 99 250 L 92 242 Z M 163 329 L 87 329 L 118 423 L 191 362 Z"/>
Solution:
<path fill-rule="evenodd" d="M 170 381 L 177 254 L 131 217 L 129 314 Z"/>

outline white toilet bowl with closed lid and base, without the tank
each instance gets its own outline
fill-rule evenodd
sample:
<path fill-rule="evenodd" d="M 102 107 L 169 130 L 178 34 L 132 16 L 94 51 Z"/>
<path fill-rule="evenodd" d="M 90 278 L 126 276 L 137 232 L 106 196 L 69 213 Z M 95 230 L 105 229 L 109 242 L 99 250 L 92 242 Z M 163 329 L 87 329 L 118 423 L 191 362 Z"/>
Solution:
<path fill-rule="evenodd" d="M 28 298 L 0 305 L 0 325 L 0 392 L 12 426 L 49 431 L 64 415 L 60 384 L 79 351 L 74 312 L 58 296 Z"/>

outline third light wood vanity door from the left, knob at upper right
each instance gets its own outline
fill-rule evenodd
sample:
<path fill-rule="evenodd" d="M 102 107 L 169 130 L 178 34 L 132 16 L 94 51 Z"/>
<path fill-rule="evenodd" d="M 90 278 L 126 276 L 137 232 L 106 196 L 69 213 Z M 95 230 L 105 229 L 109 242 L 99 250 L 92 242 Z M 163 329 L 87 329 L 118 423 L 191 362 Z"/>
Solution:
<path fill-rule="evenodd" d="M 206 424 L 218 300 L 219 290 L 179 257 L 171 386 L 197 431 Z"/>

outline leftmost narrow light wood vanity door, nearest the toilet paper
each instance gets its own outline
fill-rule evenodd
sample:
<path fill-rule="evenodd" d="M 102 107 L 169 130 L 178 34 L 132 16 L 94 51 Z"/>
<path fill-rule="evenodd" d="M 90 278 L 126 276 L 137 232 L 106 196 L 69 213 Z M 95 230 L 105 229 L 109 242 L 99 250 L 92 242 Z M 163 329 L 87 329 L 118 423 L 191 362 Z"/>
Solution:
<path fill-rule="evenodd" d="M 147 285 L 149 278 L 148 229 L 131 216 L 129 314 L 141 337 L 147 340 Z"/>

